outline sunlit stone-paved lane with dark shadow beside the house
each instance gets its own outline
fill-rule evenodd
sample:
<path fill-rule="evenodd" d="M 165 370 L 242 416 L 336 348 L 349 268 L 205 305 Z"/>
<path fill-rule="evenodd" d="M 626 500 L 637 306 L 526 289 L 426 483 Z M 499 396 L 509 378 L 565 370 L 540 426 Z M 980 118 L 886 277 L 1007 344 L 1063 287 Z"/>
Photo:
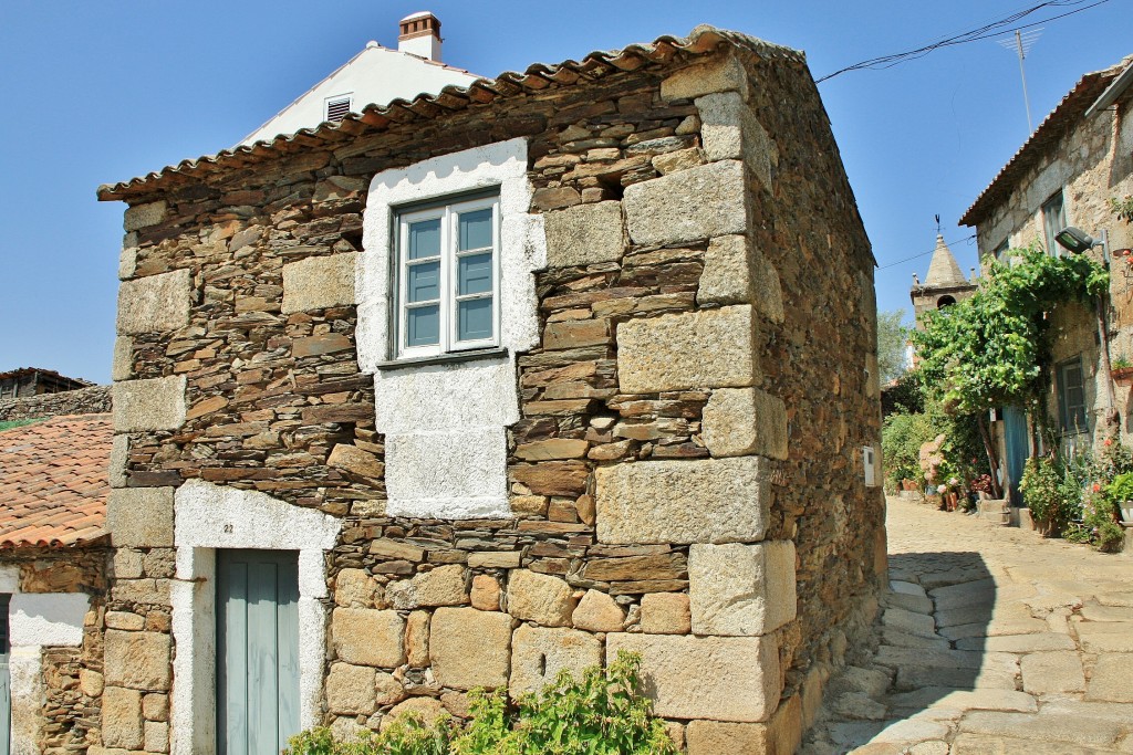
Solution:
<path fill-rule="evenodd" d="M 806 755 L 1133 753 L 1133 558 L 888 499 L 877 653 Z"/>

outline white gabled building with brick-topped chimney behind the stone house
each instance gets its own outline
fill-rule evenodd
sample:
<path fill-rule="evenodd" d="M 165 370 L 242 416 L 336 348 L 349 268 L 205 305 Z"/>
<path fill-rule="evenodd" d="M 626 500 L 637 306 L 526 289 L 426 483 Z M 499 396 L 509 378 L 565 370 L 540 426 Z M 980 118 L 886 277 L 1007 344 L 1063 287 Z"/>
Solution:
<path fill-rule="evenodd" d="M 428 11 L 400 22 L 398 49 L 377 42 L 366 46 L 338 70 L 309 88 L 266 123 L 240 140 L 241 145 L 271 141 L 281 134 L 340 121 L 368 104 L 386 105 L 399 97 L 412 100 L 435 94 L 450 84 L 468 86 L 478 76 L 441 62 L 441 22 Z"/>

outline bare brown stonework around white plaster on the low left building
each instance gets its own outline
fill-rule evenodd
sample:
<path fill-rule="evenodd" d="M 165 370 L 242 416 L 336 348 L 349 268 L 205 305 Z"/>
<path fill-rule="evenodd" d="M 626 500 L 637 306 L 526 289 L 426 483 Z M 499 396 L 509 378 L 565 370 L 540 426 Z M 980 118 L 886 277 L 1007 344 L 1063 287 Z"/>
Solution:
<path fill-rule="evenodd" d="M 82 644 L 40 651 L 43 697 L 12 702 L 14 707 L 31 703 L 37 709 L 32 712 L 35 744 L 46 755 L 85 752 L 100 739 L 107 561 L 104 548 L 19 549 L 2 555 L 2 564 L 18 566 L 22 593 L 91 595 Z"/>

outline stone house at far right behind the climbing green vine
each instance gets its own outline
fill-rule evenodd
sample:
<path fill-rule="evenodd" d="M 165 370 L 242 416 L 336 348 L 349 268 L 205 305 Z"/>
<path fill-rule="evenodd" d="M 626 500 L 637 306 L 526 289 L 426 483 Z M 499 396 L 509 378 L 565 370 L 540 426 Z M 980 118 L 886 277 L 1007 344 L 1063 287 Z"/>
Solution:
<path fill-rule="evenodd" d="M 1038 242 L 1048 254 L 1071 254 L 1055 234 L 1076 226 L 1108 237 L 1106 249 L 1087 252 L 1109 265 L 1111 282 L 1106 312 L 1110 360 L 1133 357 L 1133 268 L 1119 254 L 1133 246 L 1133 229 L 1118 220 L 1111 198 L 1133 194 L 1133 58 L 1087 74 L 960 220 L 976 229 L 980 259 L 1003 259 L 1011 248 Z M 1059 304 L 1051 314 L 1054 368 L 1047 411 L 1066 448 L 1089 448 L 1109 432 L 1107 415 L 1116 412 L 1121 437 L 1133 440 L 1130 385 L 1115 385 L 1102 367 L 1102 338 L 1097 312 L 1077 303 Z M 1017 484 L 1030 449 L 1042 443 L 1033 422 L 1007 410 L 995 422 L 1005 477 Z"/>

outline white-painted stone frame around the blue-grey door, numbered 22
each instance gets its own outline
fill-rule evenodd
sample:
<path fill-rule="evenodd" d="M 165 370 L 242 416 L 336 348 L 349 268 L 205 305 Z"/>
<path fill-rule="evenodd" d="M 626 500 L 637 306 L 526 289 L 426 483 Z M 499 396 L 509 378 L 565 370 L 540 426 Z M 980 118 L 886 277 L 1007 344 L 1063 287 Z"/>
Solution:
<path fill-rule="evenodd" d="M 215 749 L 215 554 L 220 548 L 299 551 L 299 724 L 304 729 L 317 726 L 326 644 L 326 611 L 320 601 L 326 597 L 324 554 L 334 547 L 339 520 L 263 492 L 202 480 L 178 488 L 173 515 L 173 755 Z"/>

